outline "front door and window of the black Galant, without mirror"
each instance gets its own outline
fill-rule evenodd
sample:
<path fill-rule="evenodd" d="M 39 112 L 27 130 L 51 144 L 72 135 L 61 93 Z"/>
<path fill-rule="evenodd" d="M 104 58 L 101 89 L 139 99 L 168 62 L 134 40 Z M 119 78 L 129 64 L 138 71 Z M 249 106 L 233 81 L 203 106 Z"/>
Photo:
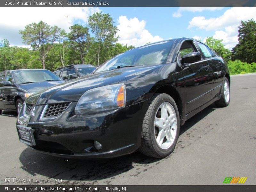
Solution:
<path fill-rule="evenodd" d="M 194 41 L 183 42 L 179 51 L 179 58 L 184 54 L 200 52 Z M 186 114 L 204 105 L 211 99 L 212 69 L 207 59 L 201 55 L 201 60 L 182 65 L 182 72 L 186 86 Z"/>

